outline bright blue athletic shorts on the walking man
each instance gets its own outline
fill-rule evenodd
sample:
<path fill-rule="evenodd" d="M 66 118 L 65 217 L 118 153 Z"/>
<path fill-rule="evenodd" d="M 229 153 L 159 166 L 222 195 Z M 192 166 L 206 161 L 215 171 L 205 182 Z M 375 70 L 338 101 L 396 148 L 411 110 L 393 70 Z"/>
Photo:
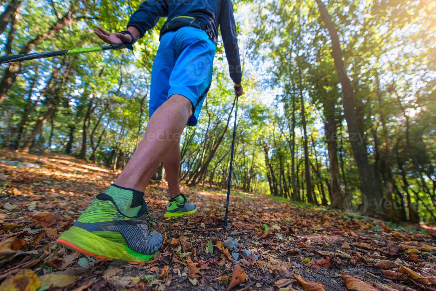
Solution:
<path fill-rule="evenodd" d="M 198 28 L 180 27 L 162 35 L 151 71 L 150 117 L 171 95 L 179 94 L 194 107 L 187 125 L 197 124 L 211 86 L 215 49 L 215 43 Z"/>

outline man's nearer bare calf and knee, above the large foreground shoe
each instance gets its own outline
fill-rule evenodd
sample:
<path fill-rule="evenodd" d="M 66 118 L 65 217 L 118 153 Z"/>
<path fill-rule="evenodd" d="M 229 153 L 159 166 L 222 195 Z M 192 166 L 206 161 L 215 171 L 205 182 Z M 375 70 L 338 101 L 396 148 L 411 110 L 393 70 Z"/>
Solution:
<path fill-rule="evenodd" d="M 191 114 L 191 101 L 184 96 L 173 95 L 162 104 L 151 116 L 143 139 L 114 184 L 144 192 L 159 164 L 179 143 Z M 180 161 L 180 150 L 178 156 Z"/>

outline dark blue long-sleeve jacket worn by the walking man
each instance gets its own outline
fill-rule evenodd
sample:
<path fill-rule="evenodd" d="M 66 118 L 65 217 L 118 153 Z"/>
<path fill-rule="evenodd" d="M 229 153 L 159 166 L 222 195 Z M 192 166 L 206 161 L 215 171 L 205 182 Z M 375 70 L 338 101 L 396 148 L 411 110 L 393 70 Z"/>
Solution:
<path fill-rule="evenodd" d="M 191 16 L 200 20 L 212 29 L 215 39 L 220 25 L 230 77 L 239 84 L 242 70 L 231 0 L 146 0 L 130 16 L 127 26 L 136 27 L 142 38 L 160 17 L 172 19 L 177 16 Z"/>

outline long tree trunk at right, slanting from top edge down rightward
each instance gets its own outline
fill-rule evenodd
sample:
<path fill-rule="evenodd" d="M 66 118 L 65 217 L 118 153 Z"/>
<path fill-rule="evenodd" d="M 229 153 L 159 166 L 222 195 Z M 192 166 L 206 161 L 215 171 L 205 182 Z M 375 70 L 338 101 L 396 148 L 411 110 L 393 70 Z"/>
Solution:
<path fill-rule="evenodd" d="M 381 214 L 381 209 L 377 209 L 377 202 L 381 198 L 381 192 L 375 183 L 374 172 L 372 171 L 368 161 L 368 153 L 366 151 L 365 144 L 361 143 L 358 139 L 352 138 L 355 137 L 360 130 L 356 118 L 356 108 L 354 106 L 354 92 L 353 88 L 351 87 L 350 79 L 348 79 L 344 72 L 344 61 L 342 58 L 342 50 L 339 43 L 339 38 L 337 36 L 337 31 L 324 4 L 321 2 L 321 0 L 316 1 L 321 17 L 330 34 L 332 46 L 331 55 L 334 58 L 336 72 L 339 81 L 341 82 L 342 94 L 344 97 L 344 116 L 347 120 L 350 143 L 359 171 L 362 195 L 366 195 L 368 199 L 368 213 L 372 215 Z"/>

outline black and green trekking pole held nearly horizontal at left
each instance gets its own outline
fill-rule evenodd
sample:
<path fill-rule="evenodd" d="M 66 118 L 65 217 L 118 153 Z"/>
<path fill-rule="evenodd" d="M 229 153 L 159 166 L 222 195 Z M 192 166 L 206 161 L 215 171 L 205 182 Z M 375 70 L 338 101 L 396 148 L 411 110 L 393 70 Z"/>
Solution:
<path fill-rule="evenodd" d="M 6 55 L 3 57 L 0 57 L 0 64 L 6 64 L 11 62 L 21 62 L 21 61 L 27 61 L 27 60 L 35 60 L 38 58 L 50 58 L 50 57 L 56 57 L 59 55 L 75 55 L 75 54 L 82 54 L 85 52 L 92 52 L 92 51 L 109 51 L 112 49 L 118 49 L 124 44 L 115 44 L 115 45 L 103 45 L 101 47 L 93 47 L 93 48 L 75 48 L 70 50 L 62 50 L 62 51 L 45 51 L 45 52 L 35 52 L 31 54 L 24 54 L 24 55 Z"/>

